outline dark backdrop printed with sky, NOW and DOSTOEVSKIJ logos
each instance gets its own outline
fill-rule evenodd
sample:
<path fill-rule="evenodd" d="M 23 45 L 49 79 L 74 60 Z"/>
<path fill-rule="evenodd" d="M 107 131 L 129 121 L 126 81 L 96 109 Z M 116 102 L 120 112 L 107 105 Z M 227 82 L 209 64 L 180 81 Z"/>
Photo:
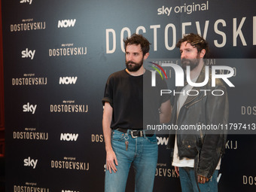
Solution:
<path fill-rule="evenodd" d="M 228 136 L 219 191 L 255 191 L 254 7 L 251 0 L 2 0 L 7 191 L 104 190 L 101 100 L 108 75 L 125 68 L 123 38 L 134 32 L 148 38 L 149 58 L 160 64 L 179 58 L 175 44 L 190 32 L 209 41 L 210 66 L 233 59 L 230 123 L 251 132 Z M 168 138 L 157 141 L 154 191 L 181 191 Z M 127 191 L 133 185 L 131 172 Z"/>

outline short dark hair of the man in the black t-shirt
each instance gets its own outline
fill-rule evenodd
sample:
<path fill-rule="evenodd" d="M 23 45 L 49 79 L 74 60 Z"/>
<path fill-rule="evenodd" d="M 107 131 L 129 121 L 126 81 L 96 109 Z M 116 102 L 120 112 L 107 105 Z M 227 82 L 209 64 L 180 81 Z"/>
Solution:
<path fill-rule="evenodd" d="M 126 40 L 123 40 L 123 42 L 124 42 L 125 50 L 128 44 L 136 44 L 136 45 L 140 44 L 142 47 L 143 56 L 145 56 L 145 54 L 149 52 L 149 45 L 151 44 L 147 38 L 143 37 L 142 35 L 138 35 L 136 33 L 134 33 L 129 38 L 127 37 Z"/>

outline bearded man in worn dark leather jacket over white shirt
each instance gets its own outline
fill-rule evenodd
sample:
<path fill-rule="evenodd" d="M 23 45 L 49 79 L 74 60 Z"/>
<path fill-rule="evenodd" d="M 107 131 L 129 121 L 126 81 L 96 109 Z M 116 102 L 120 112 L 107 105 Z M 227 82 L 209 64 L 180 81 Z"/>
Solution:
<path fill-rule="evenodd" d="M 220 79 L 212 87 L 211 72 L 203 62 L 209 47 L 200 35 L 184 35 L 176 47 L 180 48 L 181 67 L 185 71 L 190 66 L 190 80 L 208 83 L 203 87 L 185 84 L 176 90 L 179 94 L 174 97 L 171 123 L 178 125 L 178 130 L 169 135 L 168 144 L 174 148 L 172 166 L 180 176 L 182 191 L 218 191 L 227 134 L 215 129 L 227 124 L 227 90 Z"/>

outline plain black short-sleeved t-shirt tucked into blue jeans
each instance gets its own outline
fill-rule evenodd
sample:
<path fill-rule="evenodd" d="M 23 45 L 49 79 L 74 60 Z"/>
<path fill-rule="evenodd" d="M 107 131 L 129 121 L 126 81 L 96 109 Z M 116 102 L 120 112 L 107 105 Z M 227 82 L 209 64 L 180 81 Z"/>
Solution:
<path fill-rule="evenodd" d="M 103 105 L 109 102 L 113 108 L 111 128 L 142 130 L 143 125 L 158 124 L 158 109 L 169 99 L 167 94 L 160 96 L 161 89 L 167 89 L 166 82 L 157 75 L 157 86 L 151 87 L 151 72 L 148 70 L 140 76 L 130 75 L 126 70 L 110 75 L 102 102 Z"/>

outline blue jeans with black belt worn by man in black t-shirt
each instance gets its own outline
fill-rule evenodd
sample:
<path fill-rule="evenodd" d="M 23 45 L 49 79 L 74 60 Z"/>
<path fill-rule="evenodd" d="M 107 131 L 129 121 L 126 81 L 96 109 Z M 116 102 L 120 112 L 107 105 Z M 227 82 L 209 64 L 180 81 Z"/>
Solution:
<path fill-rule="evenodd" d="M 130 132 L 130 130 L 128 130 Z M 130 166 L 135 172 L 135 192 L 151 192 L 157 168 L 157 137 L 137 137 L 112 130 L 111 145 L 117 157 L 117 172 L 105 170 L 105 192 L 124 192 Z M 127 140 L 128 139 L 128 140 Z M 125 141 L 129 142 L 126 151 Z"/>

